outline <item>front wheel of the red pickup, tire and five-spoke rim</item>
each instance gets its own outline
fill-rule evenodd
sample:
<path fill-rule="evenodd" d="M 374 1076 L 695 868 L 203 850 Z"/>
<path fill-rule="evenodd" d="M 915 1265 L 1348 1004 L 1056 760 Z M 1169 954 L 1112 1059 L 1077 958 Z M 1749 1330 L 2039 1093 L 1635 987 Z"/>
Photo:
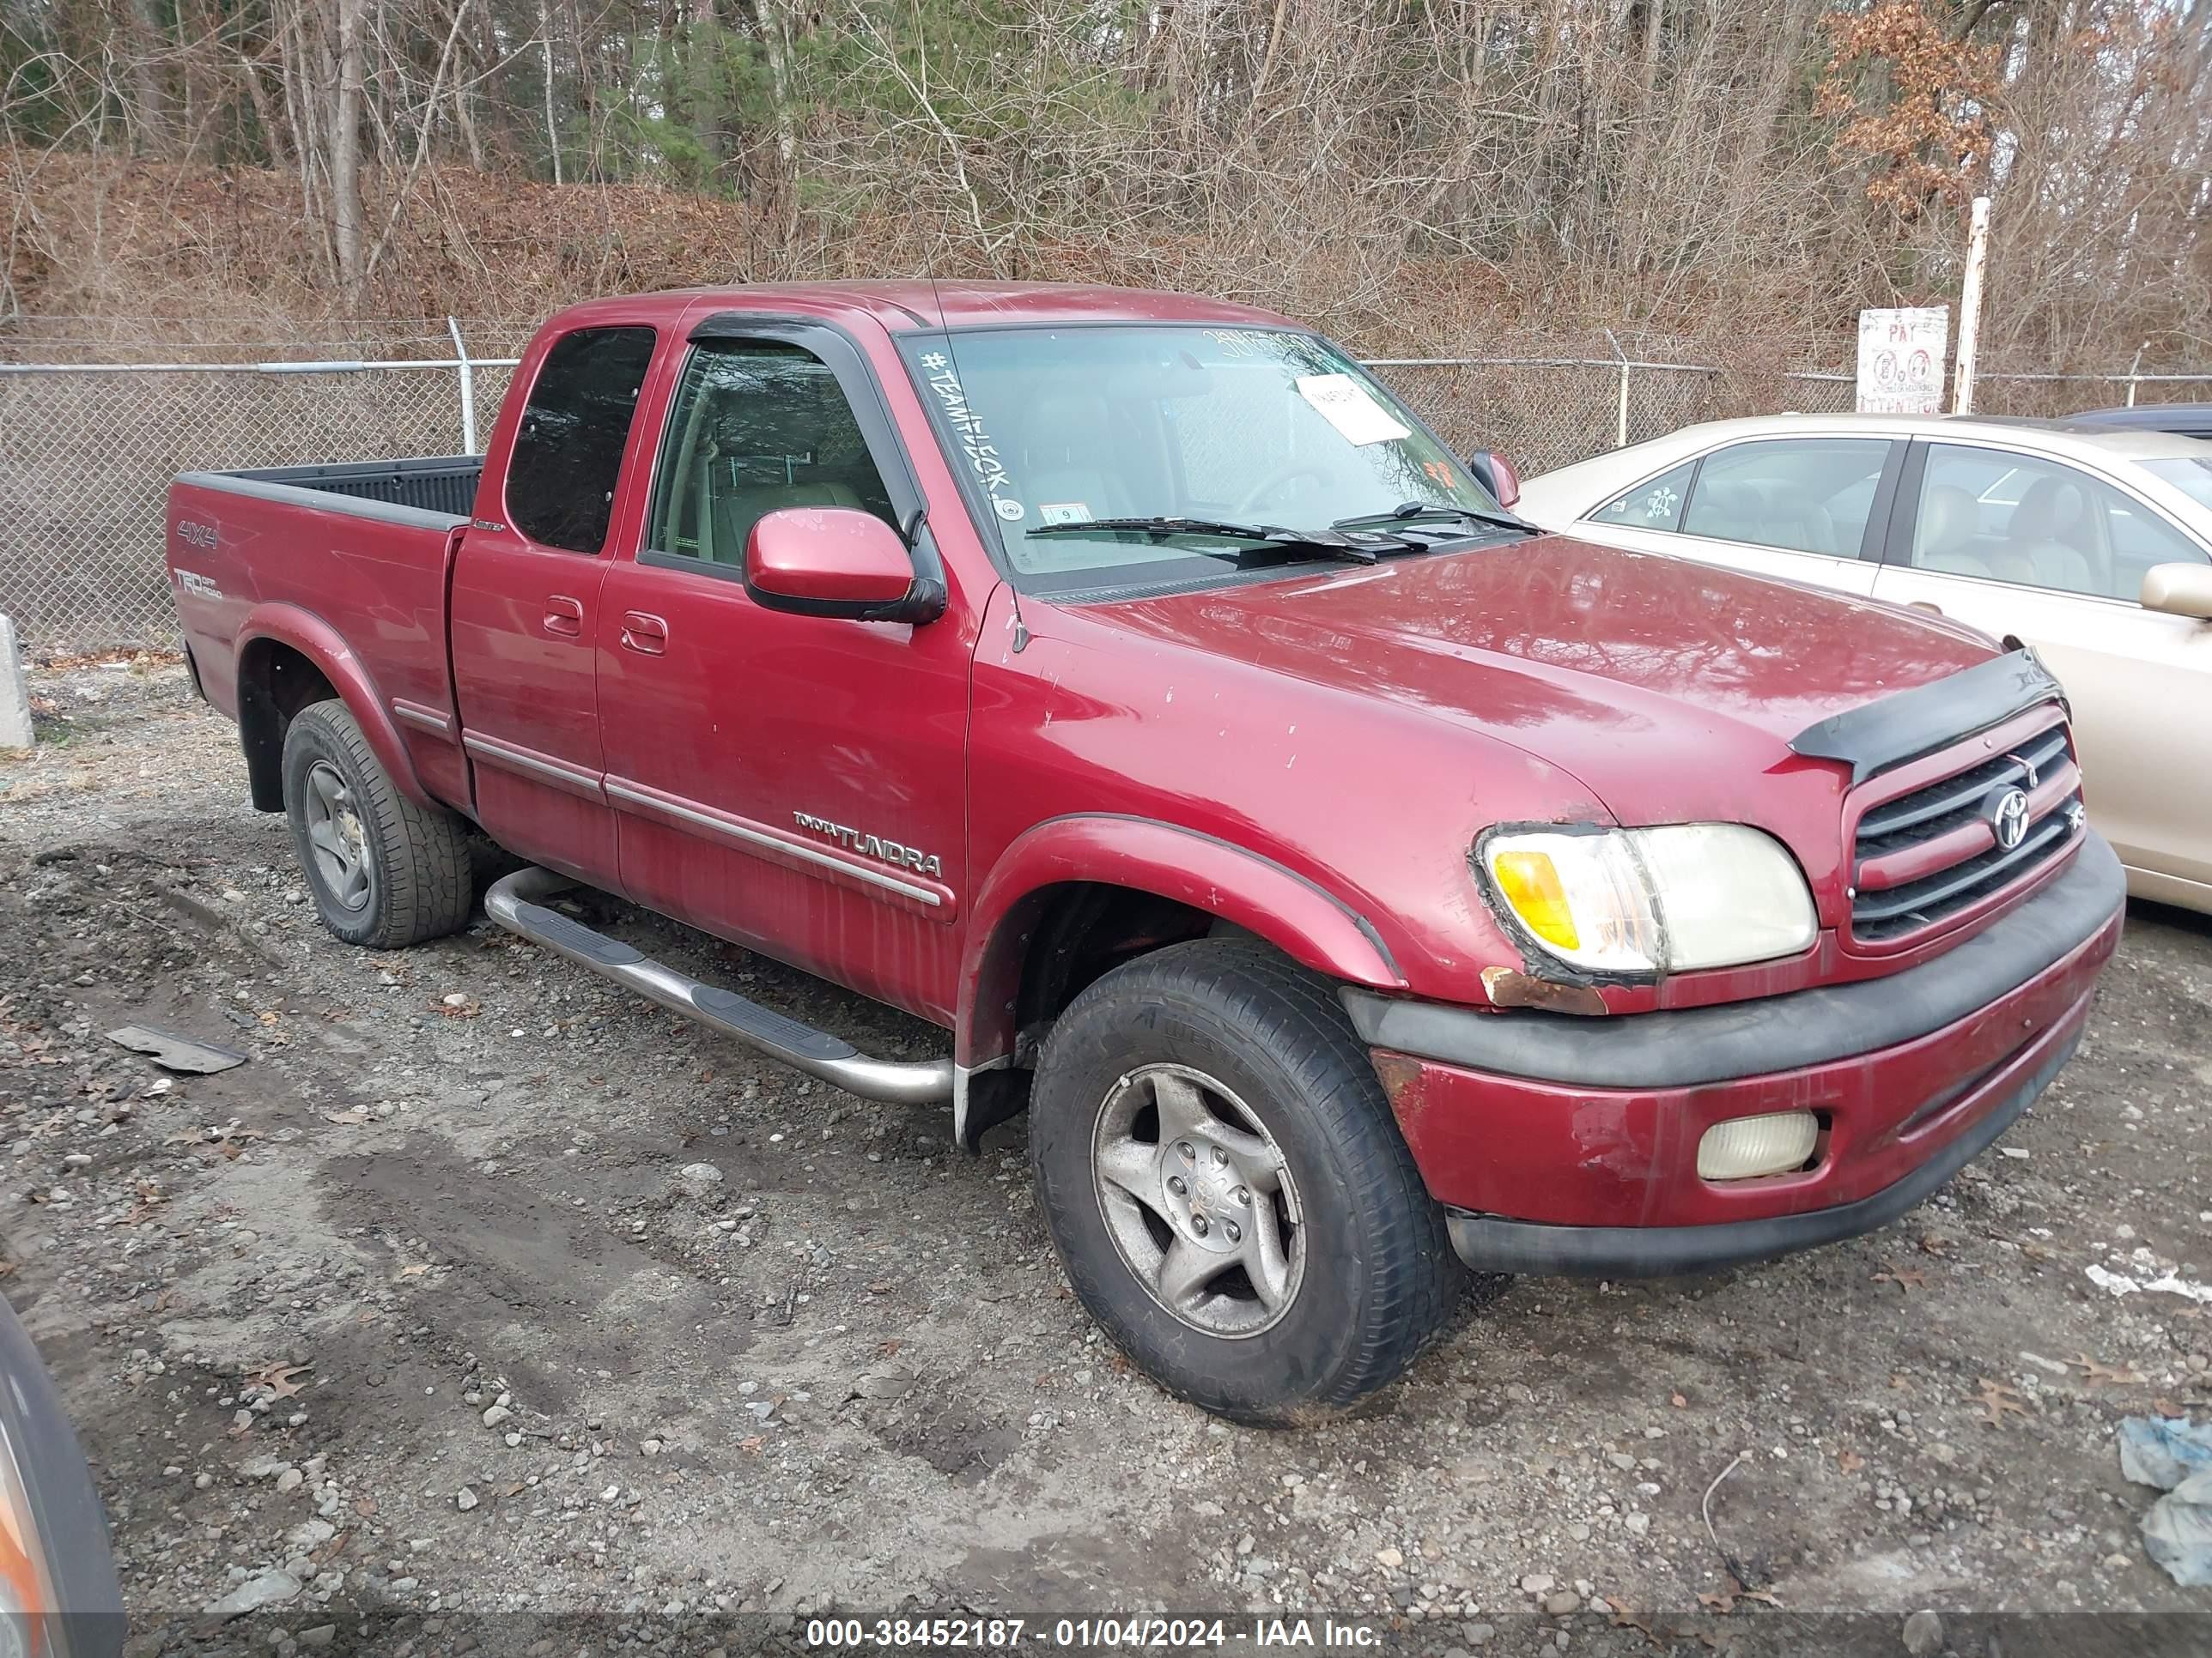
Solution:
<path fill-rule="evenodd" d="M 1029 1143 L 1084 1307 L 1146 1375 L 1237 1421 L 1385 1386 L 1462 1282 L 1329 986 L 1252 940 L 1088 986 L 1037 1059 Z"/>

